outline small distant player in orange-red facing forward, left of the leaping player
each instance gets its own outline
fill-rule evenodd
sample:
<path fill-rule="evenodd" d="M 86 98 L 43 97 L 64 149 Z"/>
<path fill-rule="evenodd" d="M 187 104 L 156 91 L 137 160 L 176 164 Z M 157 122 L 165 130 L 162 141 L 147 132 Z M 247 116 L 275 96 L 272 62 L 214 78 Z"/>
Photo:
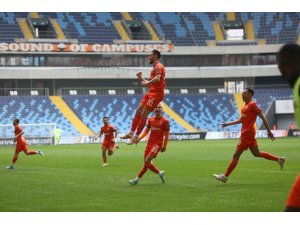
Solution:
<path fill-rule="evenodd" d="M 119 148 L 115 141 L 115 138 L 118 136 L 118 131 L 113 125 L 109 124 L 108 117 L 103 117 L 103 123 L 104 126 L 101 127 L 99 134 L 95 137 L 95 140 L 104 134 L 104 140 L 102 142 L 102 158 L 104 164 L 102 166 L 108 166 L 106 152 L 108 151 L 108 155 L 111 156 L 114 154 L 115 150 Z"/>

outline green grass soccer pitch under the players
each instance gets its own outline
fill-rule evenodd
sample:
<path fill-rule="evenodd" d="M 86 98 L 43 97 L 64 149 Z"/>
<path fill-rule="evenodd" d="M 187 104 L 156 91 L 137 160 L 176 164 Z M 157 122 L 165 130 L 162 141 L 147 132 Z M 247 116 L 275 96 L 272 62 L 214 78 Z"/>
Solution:
<path fill-rule="evenodd" d="M 261 150 L 285 156 L 276 162 L 245 152 L 223 184 L 212 177 L 225 172 L 238 140 L 173 141 L 154 161 L 166 171 L 166 183 L 148 171 L 131 186 L 143 165 L 145 143 L 120 145 L 102 167 L 100 146 L 39 146 L 45 157 L 20 154 L 7 171 L 14 149 L 0 148 L 0 211 L 219 212 L 282 211 L 300 171 L 299 138 L 259 139 Z"/>

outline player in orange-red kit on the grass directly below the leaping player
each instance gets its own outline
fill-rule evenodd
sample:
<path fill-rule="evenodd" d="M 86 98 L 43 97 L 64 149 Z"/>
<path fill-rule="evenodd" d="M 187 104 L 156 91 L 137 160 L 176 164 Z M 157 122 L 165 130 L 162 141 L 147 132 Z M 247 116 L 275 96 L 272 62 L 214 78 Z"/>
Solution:
<path fill-rule="evenodd" d="M 144 153 L 144 166 L 139 172 L 138 176 L 132 180 L 129 180 L 131 185 L 136 185 L 139 179 L 150 169 L 152 172 L 159 175 L 162 183 L 165 183 L 165 172 L 160 171 L 153 163 L 152 160 L 156 158 L 159 152 L 165 152 L 167 150 L 167 144 L 169 139 L 170 124 L 169 121 L 162 116 L 162 105 L 159 104 L 155 110 L 155 116 L 148 120 L 147 127 L 144 133 L 139 137 L 139 141 L 142 140 L 151 130 L 146 150 Z"/>

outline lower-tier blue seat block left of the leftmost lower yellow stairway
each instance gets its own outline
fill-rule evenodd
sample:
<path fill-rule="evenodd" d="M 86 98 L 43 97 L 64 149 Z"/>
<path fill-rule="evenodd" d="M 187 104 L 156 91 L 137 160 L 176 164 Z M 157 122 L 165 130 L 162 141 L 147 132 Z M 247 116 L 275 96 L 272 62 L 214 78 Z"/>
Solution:
<path fill-rule="evenodd" d="M 61 136 L 64 137 L 80 136 L 80 133 L 65 119 L 49 97 L 0 96 L 0 105 L 1 124 L 12 124 L 13 119 L 17 117 L 22 124 L 56 123 L 62 131 Z"/>

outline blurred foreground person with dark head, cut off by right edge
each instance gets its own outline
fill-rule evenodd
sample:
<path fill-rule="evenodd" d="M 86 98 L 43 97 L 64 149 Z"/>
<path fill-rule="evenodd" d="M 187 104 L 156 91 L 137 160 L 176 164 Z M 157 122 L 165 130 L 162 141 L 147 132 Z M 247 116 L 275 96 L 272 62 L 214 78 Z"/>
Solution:
<path fill-rule="evenodd" d="M 285 44 L 278 52 L 278 68 L 282 76 L 293 88 L 295 119 L 300 127 L 300 46 L 295 43 Z M 300 175 L 290 190 L 286 212 L 300 212 Z"/>

